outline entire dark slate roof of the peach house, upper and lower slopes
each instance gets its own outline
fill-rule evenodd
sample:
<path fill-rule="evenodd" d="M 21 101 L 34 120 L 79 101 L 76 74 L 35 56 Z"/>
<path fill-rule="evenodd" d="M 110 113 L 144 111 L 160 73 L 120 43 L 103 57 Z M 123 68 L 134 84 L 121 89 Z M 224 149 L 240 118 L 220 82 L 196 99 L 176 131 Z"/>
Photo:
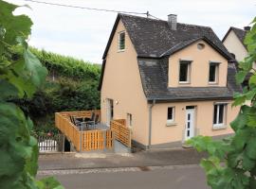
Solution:
<path fill-rule="evenodd" d="M 137 51 L 137 63 L 144 93 L 148 100 L 180 101 L 230 99 L 233 92 L 240 92 L 235 83 L 236 73 L 233 63 L 229 63 L 227 87 L 179 87 L 168 88 L 168 58 L 176 51 L 198 40 L 204 40 L 222 54 L 227 60 L 232 58 L 229 51 L 208 26 L 194 26 L 177 23 L 172 30 L 167 21 L 143 18 L 133 15 L 119 14 L 110 35 L 101 71 L 101 90 L 106 55 L 112 43 L 119 20 L 124 24 Z"/>

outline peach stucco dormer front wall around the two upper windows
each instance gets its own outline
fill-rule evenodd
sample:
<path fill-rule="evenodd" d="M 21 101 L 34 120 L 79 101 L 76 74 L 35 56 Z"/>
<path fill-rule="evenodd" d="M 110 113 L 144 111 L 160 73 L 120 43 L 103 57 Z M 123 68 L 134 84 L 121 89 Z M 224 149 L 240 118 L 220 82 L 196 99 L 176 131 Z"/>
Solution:
<path fill-rule="evenodd" d="M 203 44 L 203 49 L 198 49 L 197 44 Z M 179 63 L 181 60 L 191 61 L 190 82 L 179 83 Z M 210 62 L 218 63 L 217 82 L 209 82 Z M 227 85 L 228 60 L 221 56 L 208 43 L 199 41 L 192 43 L 187 48 L 174 53 L 169 59 L 169 87 L 208 87 Z M 200 74 L 198 74 L 200 73 Z"/>

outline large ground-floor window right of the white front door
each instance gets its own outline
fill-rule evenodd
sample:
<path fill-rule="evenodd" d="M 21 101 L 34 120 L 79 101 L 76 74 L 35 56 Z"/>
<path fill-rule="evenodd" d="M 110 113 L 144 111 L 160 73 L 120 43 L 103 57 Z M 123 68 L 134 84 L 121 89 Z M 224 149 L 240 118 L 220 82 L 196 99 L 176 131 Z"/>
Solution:
<path fill-rule="evenodd" d="M 227 104 L 215 104 L 213 113 L 213 129 L 222 129 L 226 125 Z"/>

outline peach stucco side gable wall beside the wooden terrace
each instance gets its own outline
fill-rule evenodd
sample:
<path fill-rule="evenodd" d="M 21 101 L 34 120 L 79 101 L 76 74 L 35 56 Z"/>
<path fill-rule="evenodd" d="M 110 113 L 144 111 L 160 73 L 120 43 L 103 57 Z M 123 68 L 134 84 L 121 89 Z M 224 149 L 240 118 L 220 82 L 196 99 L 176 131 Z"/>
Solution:
<path fill-rule="evenodd" d="M 121 22 L 110 45 L 101 87 L 101 121 L 107 122 L 107 99 L 114 100 L 114 119 L 133 115 L 133 139 L 147 144 L 148 104 L 142 90 L 137 66 L 137 53 L 127 32 L 125 50 L 119 51 L 119 32 L 125 31 Z"/>

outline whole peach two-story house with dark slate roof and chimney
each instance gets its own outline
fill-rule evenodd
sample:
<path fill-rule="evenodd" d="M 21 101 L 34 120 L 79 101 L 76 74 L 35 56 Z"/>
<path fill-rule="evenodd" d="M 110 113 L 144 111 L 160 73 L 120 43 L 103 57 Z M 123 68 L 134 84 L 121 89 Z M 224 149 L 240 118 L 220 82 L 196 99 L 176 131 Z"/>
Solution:
<path fill-rule="evenodd" d="M 208 26 L 119 14 L 103 54 L 101 121 L 126 119 L 137 146 L 232 133 L 236 68 Z"/>

